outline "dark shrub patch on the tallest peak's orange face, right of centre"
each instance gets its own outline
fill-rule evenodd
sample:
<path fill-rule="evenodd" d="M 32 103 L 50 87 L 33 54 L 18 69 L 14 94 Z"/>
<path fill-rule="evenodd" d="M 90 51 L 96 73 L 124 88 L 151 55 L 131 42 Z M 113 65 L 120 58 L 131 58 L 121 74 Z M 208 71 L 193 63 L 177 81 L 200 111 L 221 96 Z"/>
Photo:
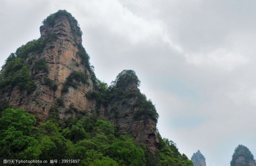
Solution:
<path fill-rule="evenodd" d="M 76 88 L 80 82 L 87 83 L 88 75 L 82 73 L 81 71 L 73 71 L 66 78 L 66 82 L 63 85 L 61 92 L 68 92 L 68 87 L 73 86 Z"/>

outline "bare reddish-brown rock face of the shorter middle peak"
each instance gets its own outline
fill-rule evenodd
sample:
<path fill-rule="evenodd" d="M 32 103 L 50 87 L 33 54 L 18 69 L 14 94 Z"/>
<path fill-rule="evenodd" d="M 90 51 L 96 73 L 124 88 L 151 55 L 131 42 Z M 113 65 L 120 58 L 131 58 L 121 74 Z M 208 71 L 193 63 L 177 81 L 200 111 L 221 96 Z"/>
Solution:
<path fill-rule="evenodd" d="M 130 84 L 124 87 L 124 94 L 128 93 L 140 93 L 138 85 Z M 118 126 L 120 132 L 131 133 L 135 141 L 147 144 L 149 149 L 155 152 L 159 143 L 156 121 L 143 115 L 136 116 L 139 110 L 139 105 L 136 105 L 138 100 L 138 95 L 122 100 L 114 97 L 101 112 L 113 124 Z"/>

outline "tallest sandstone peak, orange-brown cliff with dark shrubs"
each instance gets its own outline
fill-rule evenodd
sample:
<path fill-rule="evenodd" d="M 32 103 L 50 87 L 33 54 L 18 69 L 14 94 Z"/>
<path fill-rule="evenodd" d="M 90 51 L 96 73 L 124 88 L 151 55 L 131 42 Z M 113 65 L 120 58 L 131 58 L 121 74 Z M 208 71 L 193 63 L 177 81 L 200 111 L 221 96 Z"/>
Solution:
<path fill-rule="evenodd" d="M 58 97 L 62 100 L 59 107 L 61 119 L 65 119 L 71 114 L 74 114 L 73 116 L 77 114 L 76 112 L 67 112 L 70 105 L 79 110 L 86 110 L 86 113 L 93 112 L 95 104 L 92 101 L 89 102 L 85 97 L 85 93 L 93 89 L 92 77 L 88 67 L 82 64 L 82 58 L 78 56 L 82 45 L 82 35 L 77 26 L 71 27 L 71 22 L 75 20 L 68 18 L 68 16 L 68 14 L 59 13 L 48 17 L 48 19 L 53 20 L 53 23 L 50 20 L 45 20 L 44 25 L 40 27 L 41 38 L 31 41 L 42 41 L 43 46 L 37 44 L 39 42 L 27 46 L 31 44 L 28 42 L 25 46 L 17 49 L 16 61 L 20 58 L 24 61 L 24 66 L 31 69 L 30 75 L 33 77 L 36 88 L 34 90 L 30 88 L 32 92 L 28 92 L 24 87 L 14 84 L 13 87 L 2 90 L 1 101 L 6 99 L 11 105 L 26 109 L 32 114 L 39 114 L 42 121 L 47 119 L 49 109 L 52 104 L 57 104 Z M 56 18 L 53 19 L 52 17 Z M 34 51 L 37 49 L 36 47 L 43 48 L 36 52 Z M 36 67 L 37 63 L 41 66 L 45 63 L 46 69 Z M 6 69 L 9 64 L 10 62 L 6 61 L 1 71 L 2 77 L 5 77 L 3 79 L 7 79 L 3 75 L 7 75 Z M 68 86 L 67 92 L 61 91 L 68 76 L 74 71 L 86 75 L 88 77 L 86 83 L 79 82 L 76 86 Z M 76 80 L 72 81 L 76 82 Z"/>

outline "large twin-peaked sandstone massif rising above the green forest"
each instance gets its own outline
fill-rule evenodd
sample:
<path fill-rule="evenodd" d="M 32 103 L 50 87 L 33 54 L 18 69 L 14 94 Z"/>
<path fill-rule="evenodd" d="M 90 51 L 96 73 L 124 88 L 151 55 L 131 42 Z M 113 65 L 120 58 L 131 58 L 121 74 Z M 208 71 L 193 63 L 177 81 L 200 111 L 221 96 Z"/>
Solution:
<path fill-rule="evenodd" d="M 0 74 L 0 104 L 8 101 L 10 105 L 37 115 L 40 121 L 48 118 L 52 105 L 58 105 L 57 111 L 62 120 L 70 116 L 98 114 L 118 125 L 120 132 L 131 133 L 136 141 L 146 143 L 152 151 L 156 151 L 157 118 L 143 114 L 143 111 L 154 112 L 154 108 L 147 110 L 138 105 L 139 99 L 145 100 L 138 83 L 122 87 L 124 94 L 130 95 L 125 101 L 113 91 L 110 101 L 105 104 L 87 97 L 88 93 L 96 89 L 96 77 L 82 46 L 82 32 L 76 19 L 67 11 L 58 11 L 43 21 L 40 33 L 38 40 L 21 46 L 6 60 Z M 19 80 L 7 82 L 8 65 L 18 60 L 22 61 L 24 69 L 30 69 L 32 79 L 22 85 L 14 83 Z M 18 72 L 19 76 L 22 70 L 12 69 L 12 73 Z M 33 83 L 35 86 L 32 86 Z M 7 84 L 11 86 L 7 87 Z"/>

